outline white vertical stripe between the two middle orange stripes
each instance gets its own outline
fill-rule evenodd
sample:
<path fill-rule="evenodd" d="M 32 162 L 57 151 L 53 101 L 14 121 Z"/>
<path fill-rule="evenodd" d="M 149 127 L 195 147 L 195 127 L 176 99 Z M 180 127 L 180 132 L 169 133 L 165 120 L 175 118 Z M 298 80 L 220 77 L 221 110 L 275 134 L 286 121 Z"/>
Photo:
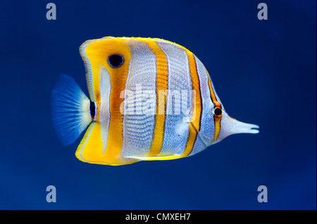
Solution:
<path fill-rule="evenodd" d="M 163 144 L 159 156 L 168 156 L 171 154 L 180 155 L 185 150 L 189 136 L 189 124 L 183 123 L 183 118 L 189 116 L 188 114 L 182 114 L 181 103 L 181 100 L 187 100 L 187 107 L 191 105 L 189 93 L 190 90 L 192 90 L 192 81 L 189 74 L 187 53 L 184 49 L 175 44 L 166 41 L 156 42 L 166 54 L 168 60 L 166 119 Z M 182 91 L 187 91 L 187 99 L 181 98 Z M 177 110 L 180 114 L 175 114 Z M 168 112 L 172 112 L 172 114 L 168 114 Z M 182 134 L 179 134 L 180 129 Z"/>

